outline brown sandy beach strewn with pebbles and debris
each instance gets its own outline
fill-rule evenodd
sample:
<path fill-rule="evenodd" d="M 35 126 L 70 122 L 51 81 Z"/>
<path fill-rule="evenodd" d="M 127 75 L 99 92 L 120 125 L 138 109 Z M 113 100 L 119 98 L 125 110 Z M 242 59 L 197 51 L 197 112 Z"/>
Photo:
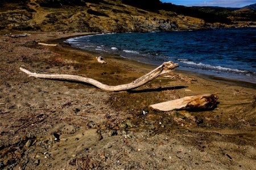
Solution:
<path fill-rule="evenodd" d="M 63 42 L 90 33 L 27 32 L 16 38 L 6 33 L 0 36 L 0 169 L 256 167 L 255 84 L 174 71 L 134 90 L 106 92 L 86 83 L 31 78 L 19 67 L 118 85 L 156 66 L 111 55 L 101 64 L 97 53 Z M 217 94 L 217 107 L 148 109 L 199 94 Z"/>

